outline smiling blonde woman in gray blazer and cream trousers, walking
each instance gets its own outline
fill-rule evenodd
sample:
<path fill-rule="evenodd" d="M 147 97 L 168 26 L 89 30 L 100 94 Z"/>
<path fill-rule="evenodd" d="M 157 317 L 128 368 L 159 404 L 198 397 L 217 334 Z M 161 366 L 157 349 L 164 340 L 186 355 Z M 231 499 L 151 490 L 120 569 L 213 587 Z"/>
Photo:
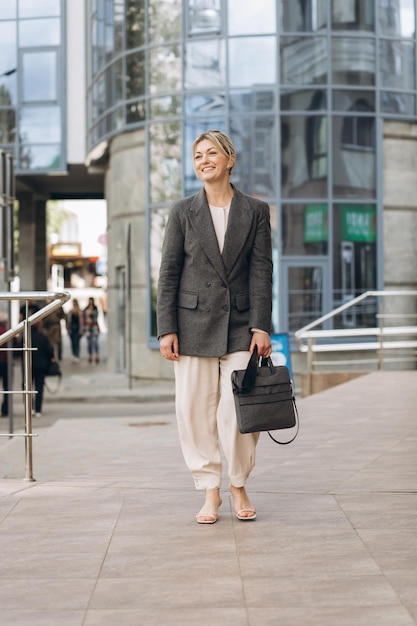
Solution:
<path fill-rule="evenodd" d="M 168 219 L 158 283 L 162 356 L 174 362 L 181 447 L 205 502 L 196 520 L 213 524 L 221 505 L 221 444 L 238 519 L 254 520 L 245 484 L 259 433 L 241 435 L 231 385 L 255 346 L 269 357 L 272 252 L 269 207 L 230 183 L 236 153 L 209 130 L 193 143 L 203 182 L 175 203 Z"/>

